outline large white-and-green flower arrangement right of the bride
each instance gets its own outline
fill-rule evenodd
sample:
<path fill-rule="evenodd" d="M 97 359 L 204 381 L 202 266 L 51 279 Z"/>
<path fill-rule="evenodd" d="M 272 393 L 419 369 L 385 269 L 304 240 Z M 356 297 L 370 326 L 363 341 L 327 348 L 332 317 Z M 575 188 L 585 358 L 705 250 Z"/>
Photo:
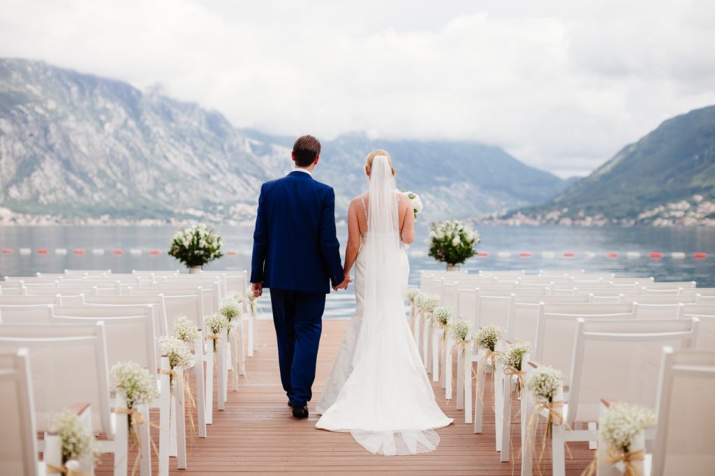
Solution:
<path fill-rule="evenodd" d="M 463 264 L 475 254 L 474 244 L 480 235 L 459 220 L 435 222 L 430 225 L 430 257 L 447 263 L 448 267 Z"/>

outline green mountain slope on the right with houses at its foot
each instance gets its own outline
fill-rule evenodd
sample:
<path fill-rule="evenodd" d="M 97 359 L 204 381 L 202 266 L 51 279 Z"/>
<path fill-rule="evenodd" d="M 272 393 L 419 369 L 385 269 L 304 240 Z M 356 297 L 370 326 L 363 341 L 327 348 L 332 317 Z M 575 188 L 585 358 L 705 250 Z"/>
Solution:
<path fill-rule="evenodd" d="M 553 199 L 510 216 L 555 223 L 688 224 L 713 218 L 713 202 L 715 106 L 709 106 L 666 120 Z"/>

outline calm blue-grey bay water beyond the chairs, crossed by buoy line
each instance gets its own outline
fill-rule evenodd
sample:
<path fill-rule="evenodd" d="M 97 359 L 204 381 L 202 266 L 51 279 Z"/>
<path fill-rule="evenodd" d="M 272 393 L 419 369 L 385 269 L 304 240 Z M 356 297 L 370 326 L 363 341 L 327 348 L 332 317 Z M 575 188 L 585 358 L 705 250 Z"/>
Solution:
<path fill-rule="evenodd" d="M 12 253 L 0 254 L 0 277 L 30 276 L 35 272 L 62 272 L 64 269 L 112 269 L 131 272 L 132 269 L 179 269 L 181 265 L 167 255 L 173 227 L 0 227 L 0 248 Z M 225 250 L 235 251 L 206 269 L 247 269 L 250 267 L 252 227 L 218 227 L 225 239 Z M 474 257 L 464 267 L 469 272 L 479 269 L 586 269 L 588 272 L 616 272 L 623 276 L 653 276 L 658 281 L 694 280 L 701 287 L 715 287 L 715 229 L 711 228 L 597 228 L 564 227 L 482 227 L 480 252 L 488 257 Z M 338 237 L 344 243 L 347 228 L 338 227 Z M 410 284 L 417 284 L 421 269 L 443 269 L 444 265 L 427 256 L 426 227 L 418 228 L 418 239 L 410 247 Z M 29 254 L 19 249 L 29 248 Z M 56 249 L 66 254 L 56 254 Z M 41 254 L 38 249 L 46 249 Z M 84 254 L 74 254 L 84 249 Z M 94 254 L 102 249 L 104 254 Z M 122 254 L 114 254 L 114 250 Z M 134 252 L 130 252 L 130 250 Z M 149 254 L 159 250 L 159 254 Z M 138 254 L 141 252 L 141 254 Z M 300 250 L 296 250 L 300 252 Z M 500 257 L 509 252 L 510 257 Z M 531 257 L 519 257 L 531 252 Z M 554 257 L 542 257 L 553 252 Z M 563 257 L 573 252 L 575 257 Z M 616 252 L 618 257 L 606 257 Z M 627 252 L 639 252 L 641 257 L 628 258 Z M 649 257 L 661 252 L 663 258 Z M 671 252 L 683 252 L 686 257 L 670 257 Z M 705 259 L 693 257 L 705 252 Z M 593 257 L 588 257 L 593 254 Z M 328 297 L 326 317 L 348 317 L 355 297 L 350 292 L 332 293 Z M 262 299 L 262 310 L 270 311 L 268 299 Z"/>

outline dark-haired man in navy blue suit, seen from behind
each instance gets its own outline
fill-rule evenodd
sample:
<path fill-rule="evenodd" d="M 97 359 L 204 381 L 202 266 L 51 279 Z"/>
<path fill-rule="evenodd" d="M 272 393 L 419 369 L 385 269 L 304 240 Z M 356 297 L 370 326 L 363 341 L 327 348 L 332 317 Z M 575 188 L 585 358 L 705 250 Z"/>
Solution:
<path fill-rule="evenodd" d="M 293 416 L 307 418 L 315 361 L 330 285 L 347 289 L 335 236 L 335 192 L 312 178 L 320 142 L 302 136 L 293 144 L 295 169 L 266 182 L 253 232 L 251 290 L 270 288 L 278 339 L 280 380 Z"/>

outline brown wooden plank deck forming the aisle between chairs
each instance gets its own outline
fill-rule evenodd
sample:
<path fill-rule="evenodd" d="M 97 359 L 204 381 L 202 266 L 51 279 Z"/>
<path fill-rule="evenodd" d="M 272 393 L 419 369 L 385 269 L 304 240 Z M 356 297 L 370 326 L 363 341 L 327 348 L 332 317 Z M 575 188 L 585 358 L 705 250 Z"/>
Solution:
<path fill-rule="evenodd" d="M 313 386 L 314 402 L 320 397 L 348 321 L 326 319 L 323 324 L 317 376 Z M 247 358 L 247 378 L 240 390 L 229 392 L 226 410 L 214 407 L 213 425 L 207 438 L 187 443 L 188 469 L 177 470 L 172 458 L 172 475 L 518 475 L 518 426 L 513 425 L 513 461 L 500 462 L 494 449 L 494 414 L 485 410 L 484 432 L 473 433 L 473 425 L 463 423 L 463 412 L 454 402 L 444 400 L 444 392 L 433 384 L 435 395 L 445 413 L 455 419 L 450 427 L 438 430 L 438 450 L 415 456 L 375 456 L 363 449 L 349 434 L 315 429 L 317 415 L 295 420 L 280 385 L 277 349 L 272 322 L 260 321 L 260 347 Z M 489 396 L 485 396 L 488 398 Z M 309 405 L 309 409 L 312 407 Z M 515 408 L 516 410 L 516 408 Z M 156 415 L 152 415 L 154 420 Z M 189 425 L 187 425 L 189 427 Z M 154 439 L 156 441 L 156 430 Z M 580 475 L 593 452 L 586 444 L 569 445 L 573 459 L 566 461 L 568 475 Z M 543 474 L 551 474 L 547 448 Z M 130 457 L 133 461 L 133 457 Z M 154 467 L 156 459 L 154 458 Z M 111 457 L 103 457 L 97 475 L 110 475 Z M 536 474 L 536 467 L 535 467 Z"/>

